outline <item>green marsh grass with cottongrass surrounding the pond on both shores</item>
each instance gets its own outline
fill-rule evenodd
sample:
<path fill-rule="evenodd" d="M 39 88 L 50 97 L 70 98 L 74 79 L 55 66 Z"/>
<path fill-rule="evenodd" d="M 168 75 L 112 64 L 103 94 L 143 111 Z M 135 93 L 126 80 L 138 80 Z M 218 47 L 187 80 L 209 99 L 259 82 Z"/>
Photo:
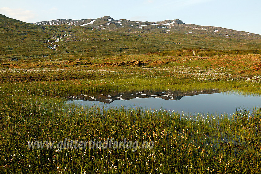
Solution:
<path fill-rule="evenodd" d="M 233 115 L 186 114 L 141 108 L 85 107 L 62 97 L 134 90 L 218 89 L 260 94 L 260 77 L 229 69 L 65 68 L 1 69 L 2 75 L 91 74 L 84 80 L 9 79 L 0 84 L 2 173 L 258 173 L 261 110 Z M 3 72 L 6 71 L 6 72 Z M 13 71 L 13 72 L 11 72 Z M 53 73 L 54 72 L 54 73 Z M 44 76 L 44 77 L 46 77 Z M 152 149 L 29 149 L 28 141 L 154 141 Z M 124 164 L 124 165 L 123 165 Z M 29 167 L 30 166 L 30 167 Z"/>

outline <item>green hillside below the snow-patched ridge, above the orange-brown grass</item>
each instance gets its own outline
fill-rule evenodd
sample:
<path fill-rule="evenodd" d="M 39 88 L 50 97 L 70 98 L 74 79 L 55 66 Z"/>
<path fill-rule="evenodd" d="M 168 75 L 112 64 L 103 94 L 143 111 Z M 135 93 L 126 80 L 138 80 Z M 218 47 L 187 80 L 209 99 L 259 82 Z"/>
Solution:
<path fill-rule="evenodd" d="M 182 50 L 200 48 L 208 49 L 207 52 L 201 49 L 200 54 L 207 56 L 221 55 L 224 50 L 236 50 L 229 53 L 238 54 L 256 53 L 261 49 L 260 37 L 258 37 L 260 35 L 256 34 L 249 39 L 237 39 L 236 34 L 234 38 L 224 38 L 204 33 L 204 31 L 183 34 L 184 31 L 181 32 L 181 28 L 172 31 L 154 28 L 153 31 L 133 30 L 126 32 L 121 28 L 110 31 L 73 25 L 41 26 L 21 22 L 4 15 L 0 15 L 0 28 L 1 60 L 7 60 L 11 57 L 18 59 L 39 58 L 47 55 L 48 58 L 68 56 L 79 58 L 162 53 L 165 51 L 167 51 L 167 55 L 179 55 L 186 52 Z M 59 42 L 55 42 L 55 40 Z M 56 45 L 56 50 L 49 48 L 54 45 Z M 191 52 L 184 55 L 187 54 L 190 55 Z"/>

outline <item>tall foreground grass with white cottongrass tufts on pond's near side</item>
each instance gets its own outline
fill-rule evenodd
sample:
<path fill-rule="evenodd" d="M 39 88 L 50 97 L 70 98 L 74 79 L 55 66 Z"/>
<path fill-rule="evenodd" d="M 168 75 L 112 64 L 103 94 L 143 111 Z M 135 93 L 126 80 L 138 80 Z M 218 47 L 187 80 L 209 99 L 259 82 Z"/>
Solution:
<path fill-rule="evenodd" d="M 186 115 L 167 110 L 83 107 L 59 98 L 3 95 L 0 105 L 1 173 L 260 171 L 260 109 L 233 116 Z M 139 143 L 151 140 L 154 147 L 136 152 L 123 148 L 56 152 L 28 149 L 27 145 L 37 140 L 103 141 L 111 137 Z"/>

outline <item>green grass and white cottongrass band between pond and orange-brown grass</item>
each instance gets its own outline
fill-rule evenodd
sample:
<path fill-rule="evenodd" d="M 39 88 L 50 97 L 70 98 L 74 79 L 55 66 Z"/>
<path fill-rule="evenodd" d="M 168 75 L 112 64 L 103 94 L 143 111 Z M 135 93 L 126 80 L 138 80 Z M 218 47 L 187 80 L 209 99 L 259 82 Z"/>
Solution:
<path fill-rule="evenodd" d="M 0 81 L 0 94 L 40 95 L 64 97 L 81 93 L 101 93 L 110 91 L 195 91 L 218 89 L 237 90 L 244 94 L 261 94 L 260 78 L 234 77 L 229 69 L 206 68 L 36 68 L 0 69 L 1 77 L 32 76 L 46 80 L 24 81 L 14 78 Z M 61 77 L 79 77 L 63 79 Z M 86 77 L 90 79 L 86 79 Z M 49 79 L 50 77 L 50 79 Z M 82 79 L 83 77 L 83 79 Z M 48 80 L 49 79 L 49 80 Z"/>

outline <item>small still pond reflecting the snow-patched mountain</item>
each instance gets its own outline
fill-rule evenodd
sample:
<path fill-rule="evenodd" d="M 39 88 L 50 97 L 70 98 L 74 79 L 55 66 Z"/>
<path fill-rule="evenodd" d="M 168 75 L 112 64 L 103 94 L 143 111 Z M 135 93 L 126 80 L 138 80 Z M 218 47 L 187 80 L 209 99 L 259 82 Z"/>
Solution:
<path fill-rule="evenodd" d="M 184 113 L 233 114 L 236 110 L 261 107 L 258 95 L 243 95 L 233 91 L 220 92 L 216 89 L 178 92 L 178 91 L 138 91 L 127 93 L 81 94 L 66 97 L 71 103 L 81 105 L 106 105 L 109 107 L 129 107 L 142 109 L 167 109 Z"/>

